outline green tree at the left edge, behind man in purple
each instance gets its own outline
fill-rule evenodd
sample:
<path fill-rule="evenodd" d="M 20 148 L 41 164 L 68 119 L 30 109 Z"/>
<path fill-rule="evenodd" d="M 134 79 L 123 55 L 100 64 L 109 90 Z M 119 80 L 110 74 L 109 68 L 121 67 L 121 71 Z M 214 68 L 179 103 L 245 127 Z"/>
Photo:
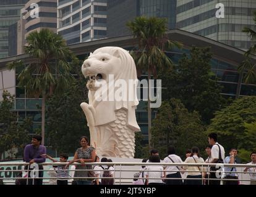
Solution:
<path fill-rule="evenodd" d="M 14 148 L 23 148 L 28 142 L 28 129 L 32 126 L 30 119 L 25 119 L 23 123 L 17 123 L 17 113 L 12 111 L 14 106 L 14 96 L 4 91 L 0 102 L 0 158 L 4 151 L 11 151 Z"/>

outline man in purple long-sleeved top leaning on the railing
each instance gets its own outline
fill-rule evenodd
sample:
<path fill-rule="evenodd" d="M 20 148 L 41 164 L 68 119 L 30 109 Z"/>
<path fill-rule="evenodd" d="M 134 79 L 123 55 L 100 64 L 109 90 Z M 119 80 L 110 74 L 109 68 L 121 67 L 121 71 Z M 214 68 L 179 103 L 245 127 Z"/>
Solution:
<path fill-rule="evenodd" d="M 26 163 L 30 163 L 29 167 L 30 170 L 28 172 L 28 177 L 30 177 L 30 172 L 33 169 L 33 166 L 35 164 L 38 165 L 38 169 L 40 170 L 38 172 L 38 177 L 43 177 L 43 166 L 40 165 L 40 163 L 45 163 L 45 158 L 41 155 L 46 154 L 46 148 L 45 146 L 40 145 L 42 140 L 42 137 L 40 135 L 34 135 L 32 137 L 32 141 L 30 145 L 27 145 L 24 149 L 24 159 Z M 33 164 L 33 165 L 32 165 Z M 25 169 L 27 169 L 27 167 Z M 36 167 L 35 167 L 36 169 Z M 32 172 L 33 173 L 33 172 Z M 35 173 L 35 177 L 37 176 L 37 173 Z M 28 185 L 42 185 L 43 179 L 28 179 Z"/>

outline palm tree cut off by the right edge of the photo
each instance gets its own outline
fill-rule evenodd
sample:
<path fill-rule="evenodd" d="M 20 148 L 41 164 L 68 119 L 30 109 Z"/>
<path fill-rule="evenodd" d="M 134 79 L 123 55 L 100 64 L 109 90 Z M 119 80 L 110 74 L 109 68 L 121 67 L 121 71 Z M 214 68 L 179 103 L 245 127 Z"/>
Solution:
<path fill-rule="evenodd" d="M 256 25 L 256 11 L 254 11 L 254 22 Z M 248 27 L 245 27 L 242 32 L 247 33 L 247 35 L 252 39 L 252 41 L 256 41 L 256 29 L 252 30 Z M 256 44 L 254 44 L 252 47 L 250 47 L 247 52 L 245 52 L 245 60 L 242 62 L 242 64 L 239 66 L 238 70 L 240 73 L 245 74 L 245 83 L 254 84 L 256 82 L 256 63 L 255 60 L 252 60 L 252 56 L 255 57 L 256 55 Z"/>

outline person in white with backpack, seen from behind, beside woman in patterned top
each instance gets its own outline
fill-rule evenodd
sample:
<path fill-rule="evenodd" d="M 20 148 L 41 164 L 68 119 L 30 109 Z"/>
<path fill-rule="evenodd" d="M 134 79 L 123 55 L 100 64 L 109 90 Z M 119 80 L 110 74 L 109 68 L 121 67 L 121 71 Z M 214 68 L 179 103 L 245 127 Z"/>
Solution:
<path fill-rule="evenodd" d="M 101 162 L 109 162 L 107 158 L 101 158 Z M 94 168 L 96 179 L 100 185 L 114 185 L 114 167 L 100 165 Z M 97 178 L 99 177 L 99 178 Z"/>

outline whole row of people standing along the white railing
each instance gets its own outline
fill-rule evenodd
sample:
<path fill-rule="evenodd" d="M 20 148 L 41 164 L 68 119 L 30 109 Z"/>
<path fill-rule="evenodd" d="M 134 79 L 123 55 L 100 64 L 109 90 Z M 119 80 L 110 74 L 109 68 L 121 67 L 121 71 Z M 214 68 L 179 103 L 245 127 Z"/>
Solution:
<path fill-rule="evenodd" d="M 192 147 L 186 151 L 186 160 L 183 162 L 181 157 L 176 155 L 173 146 L 168 147 L 168 156 L 163 159 L 162 163 L 176 163 L 175 165 L 161 165 L 159 153 L 156 149 L 151 150 L 151 155 L 148 159 L 143 159 L 145 163 L 140 169 L 139 173 L 134 175 L 134 184 L 138 185 L 152 185 L 152 184 L 166 184 L 166 185 L 220 185 L 221 177 L 216 173 L 220 170 L 217 165 L 208 167 L 191 166 L 186 164 L 193 163 L 209 163 L 209 164 L 236 164 L 237 148 L 231 148 L 229 155 L 225 158 L 225 151 L 223 146 L 218 143 L 218 136 L 215 133 L 208 135 L 209 145 L 205 148 L 208 158 L 203 159 L 200 156 L 198 147 Z M 49 177 L 49 184 L 51 185 L 67 185 L 68 180 L 72 177 L 72 184 L 77 185 L 113 185 L 114 184 L 114 167 L 111 165 L 96 165 L 85 163 L 111 163 L 111 159 L 100 158 L 96 155 L 95 148 L 90 146 L 88 137 L 82 136 L 80 138 L 80 148 L 77 148 L 74 158 L 68 161 L 69 156 L 66 153 L 59 155 L 59 161 L 46 154 L 46 147 L 40 145 L 41 136 L 34 135 L 32 137 L 32 144 L 27 145 L 24 150 L 24 161 L 29 165 L 24 166 L 28 171 L 28 178 L 30 172 L 33 170 L 33 163 L 38 164 L 38 176 L 35 179 L 28 179 L 28 185 L 41 185 L 43 184 L 43 165 L 46 158 L 51 161 L 59 163 L 67 163 L 56 165 L 49 169 L 47 172 Z M 256 165 L 256 152 L 250 155 L 252 161 L 248 164 Z M 75 163 L 80 163 L 76 165 Z M 159 165 L 150 165 L 149 163 L 159 163 Z M 182 165 L 180 165 L 182 164 Z M 255 167 L 246 167 L 244 172 L 255 172 Z M 182 178 L 182 174 L 187 179 Z M 184 176 L 183 175 L 183 176 Z M 250 184 L 256 185 L 256 174 L 250 173 Z M 23 176 L 24 177 L 24 176 Z M 145 179 L 144 179 L 145 178 Z M 238 185 L 239 178 L 236 167 L 224 167 L 223 184 L 225 185 Z M 228 180 L 231 179 L 231 180 Z"/>

